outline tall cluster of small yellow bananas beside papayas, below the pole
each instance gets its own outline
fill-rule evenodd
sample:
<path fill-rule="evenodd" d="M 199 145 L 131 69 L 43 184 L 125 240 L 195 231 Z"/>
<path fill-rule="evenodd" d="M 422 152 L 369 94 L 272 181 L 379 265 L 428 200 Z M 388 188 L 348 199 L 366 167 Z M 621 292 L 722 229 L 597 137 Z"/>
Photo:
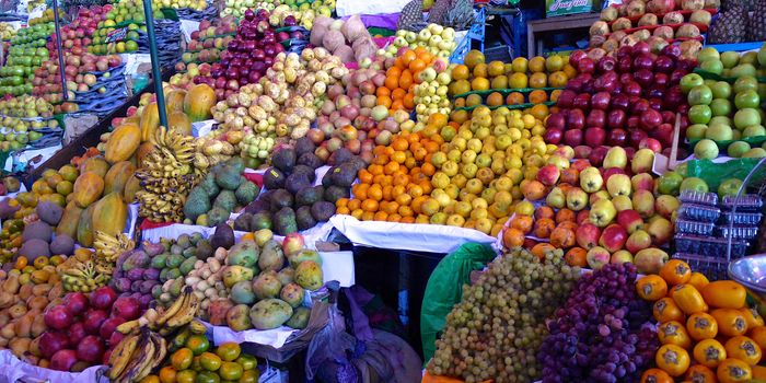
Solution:
<path fill-rule="evenodd" d="M 151 142 L 154 149 L 136 172 L 141 182 L 136 194 L 139 214 L 153 222 L 181 222 L 186 196 L 199 181 L 194 167 L 194 138 L 160 127 Z"/>

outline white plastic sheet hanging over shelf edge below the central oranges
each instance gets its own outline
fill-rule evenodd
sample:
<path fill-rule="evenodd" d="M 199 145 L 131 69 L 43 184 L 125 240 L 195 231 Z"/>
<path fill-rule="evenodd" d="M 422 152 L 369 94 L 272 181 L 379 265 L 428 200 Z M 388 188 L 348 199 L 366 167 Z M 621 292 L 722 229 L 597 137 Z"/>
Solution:
<path fill-rule="evenodd" d="M 496 239 L 473 229 L 440 224 L 359 221 L 351 216 L 329 219 L 353 244 L 429 253 L 452 253 L 466 242 L 495 243 Z"/>

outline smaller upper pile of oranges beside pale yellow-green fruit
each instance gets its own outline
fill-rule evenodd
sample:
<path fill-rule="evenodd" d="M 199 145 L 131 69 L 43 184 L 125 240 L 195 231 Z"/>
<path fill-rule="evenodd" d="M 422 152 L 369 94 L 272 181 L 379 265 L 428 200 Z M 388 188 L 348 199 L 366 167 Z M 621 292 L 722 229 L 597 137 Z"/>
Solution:
<path fill-rule="evenodd" d="M 415 109 L 415 85 L 421 82 L 420 72 L 430 66 L 434 56 L 423 47 L 407 49 L 385 72 L 385 83 L 378 88 L 378 105 L 385 105 L 391 114 L 398 109 Z"/>

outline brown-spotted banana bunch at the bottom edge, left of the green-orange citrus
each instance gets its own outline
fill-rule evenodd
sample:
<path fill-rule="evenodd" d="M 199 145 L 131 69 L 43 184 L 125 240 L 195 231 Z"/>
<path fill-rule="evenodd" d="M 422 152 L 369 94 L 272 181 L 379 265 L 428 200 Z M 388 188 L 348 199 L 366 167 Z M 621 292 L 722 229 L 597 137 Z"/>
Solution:
<path fill-rule="evenodd" d="M 109 356 L 106 376 L 112 382 L 138 382 L 159 367 L 167 355 L 167 341 L 147 327 L 123 338 Z"/>

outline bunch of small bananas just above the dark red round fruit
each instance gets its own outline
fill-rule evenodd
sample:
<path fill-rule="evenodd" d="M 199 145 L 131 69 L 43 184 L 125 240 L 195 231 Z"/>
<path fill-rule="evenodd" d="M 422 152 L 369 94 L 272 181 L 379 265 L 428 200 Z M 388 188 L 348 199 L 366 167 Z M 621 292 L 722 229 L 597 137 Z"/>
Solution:
<path fill-rule="evenodd" d="M 86 248 L 78 248 L 57 270 L 65 291 L 91 292 L 109 282 L 114 263 L 93 257 Z"/>

